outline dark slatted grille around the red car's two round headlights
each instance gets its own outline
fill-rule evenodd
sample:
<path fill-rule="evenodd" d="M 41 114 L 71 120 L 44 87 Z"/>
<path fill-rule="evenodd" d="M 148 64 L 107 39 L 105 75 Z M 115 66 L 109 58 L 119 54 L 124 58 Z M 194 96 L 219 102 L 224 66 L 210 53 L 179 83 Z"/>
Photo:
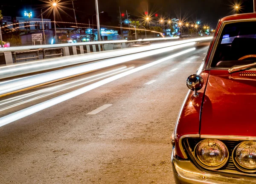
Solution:
<path fill-rule="evenodd" d="M 189 139 L 187 139 L 187 143 L 186 143 L 186 140 L 185 140 L 184 144 L 185 144 L 186 150 L 187 150 L 188 152 L 190 152 L 190 154 L 189 154 L 190 157 L 191 157 L 192 155 L 194 155 L 194 154 L 193 154 L 193 151 L 194 151 L 194 149 L 195 149 L 195 146 L 196 146 L 201 140 L 203 140 L 203 139 L 189 138 Z M 215 170 L 215 171 L 222 172 L 222 173 L 233 173 L 233 174 L 241 174 L 241 175 L 247 175 L 247 176 L 256 176 L 256 173 L 245 173 L 245 172 L 239 170 L 239 169 L 235 166 L 235 164 L 234 164 L 234 162 L 233 162 L 232 152 L 233 152 L 233 150 L 235 149 L 235 147 L 236 147 L 239 143 L 241 143 L 241 142 L 243 142 L 243 141 L 225 141 L 225 140 L 221 140 L 221 141 L 227 146 L 227 149 L 228 149 L 228 151 L 229 151 L 229 156 L 230 156 L 230 157 L 229 157 L 227 163 L 226 163 L 223 167 L 221 167 L 220 169 Z M 186 144 L 189 144 L 189 145 L 186 145 Z M 189 146 L 190 149 L 187 149 L 187 146 Z M 191 159 L 193 162 L 195 162 L 195 159 L 192 159 L 192 158 L 190 158 L 190 159 Z M 200 167 L 200 166 L 198 166 L 198 167 Z M 206 170 L 205 168 L 202 168 L 202 169 Z M 212 170 L 211 170 L 211 171 L 212 171 Z"/>

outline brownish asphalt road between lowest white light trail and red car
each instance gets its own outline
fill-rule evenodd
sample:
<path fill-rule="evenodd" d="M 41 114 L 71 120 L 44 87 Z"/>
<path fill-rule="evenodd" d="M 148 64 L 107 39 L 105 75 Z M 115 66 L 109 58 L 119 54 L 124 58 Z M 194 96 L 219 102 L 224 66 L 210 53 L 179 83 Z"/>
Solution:
<path fill-rule="evenodd" d="M 1 127 L 0 184 L 174 183 L 169 138 L 208 45 Z"/>

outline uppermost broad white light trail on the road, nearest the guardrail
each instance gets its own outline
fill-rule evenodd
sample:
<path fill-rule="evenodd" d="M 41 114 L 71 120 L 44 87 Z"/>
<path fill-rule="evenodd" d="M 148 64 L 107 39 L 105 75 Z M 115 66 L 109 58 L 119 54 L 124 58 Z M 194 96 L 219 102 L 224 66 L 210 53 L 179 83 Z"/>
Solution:
<path fill-rule="evenodd" d="M 147 45 L 143 47 L 125 48 L 125 49 L 119 49 L 119 50 L 113 50 L 113 51 L 103 51 L 103 52 L 91 53 L 91 54 L 80 54 L 76 56 L 52 58 L 47 60 L 38 60 L 35 62 L 23 62 L 23 63 L 17 63 L 15 65 L 6 65 L 6 66 L 0 67 L 0 79 L 5 79 L 5 78 L 23 75 L 23 74 L 30 74 L 38 71 L 46 71 L 50 69 L 76 65 L 76 64 L 91 62 L 91 61 L 100 60 L 100 59 L 108 59 L 111 57 L 135 54 L 143 51 L 150 51 L 158 48 L 165 48 L 165 47 L 180 45 L 180 44 L 189 43 L 189 42 L 198 42 L 198 41 L 211 40 L 211 39 L 212 37 L 202 37 L 202 38 L 196 38 L 196 39 L 179 40 L 175 42 L 166 42 L 161 44 Z"/>

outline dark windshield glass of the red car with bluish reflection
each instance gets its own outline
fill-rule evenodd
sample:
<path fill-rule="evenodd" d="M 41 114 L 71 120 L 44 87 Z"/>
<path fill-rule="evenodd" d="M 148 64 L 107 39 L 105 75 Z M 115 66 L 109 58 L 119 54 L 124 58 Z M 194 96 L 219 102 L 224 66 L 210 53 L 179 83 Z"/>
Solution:
<path fill-rule="evenodd" d="M 231 68 L 256 62 L 256 21 L 226 24 L 218 40 L 211 68 Z"/>

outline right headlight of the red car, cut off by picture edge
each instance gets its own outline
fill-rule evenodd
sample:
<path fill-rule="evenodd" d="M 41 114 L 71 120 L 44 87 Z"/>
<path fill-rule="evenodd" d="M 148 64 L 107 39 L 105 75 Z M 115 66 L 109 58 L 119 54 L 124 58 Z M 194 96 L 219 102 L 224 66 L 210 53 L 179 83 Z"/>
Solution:
<path fill-rule="evenodd" d="M 240 170 L 244 172 L 256 172 L 256 142 L 241 142 L 233 150 L 233 160 Z"/>

